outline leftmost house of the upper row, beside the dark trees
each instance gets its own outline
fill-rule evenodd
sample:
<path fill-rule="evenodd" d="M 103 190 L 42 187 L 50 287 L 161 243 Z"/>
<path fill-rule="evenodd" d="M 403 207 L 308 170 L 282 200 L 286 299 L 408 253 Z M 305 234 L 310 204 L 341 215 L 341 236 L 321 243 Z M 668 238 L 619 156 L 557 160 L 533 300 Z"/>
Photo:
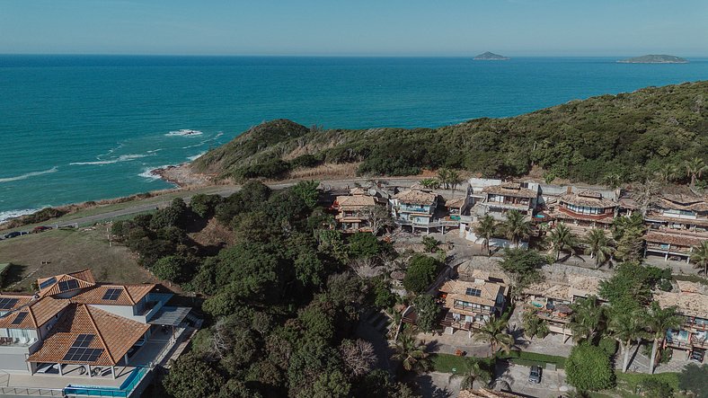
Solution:
<path fill-rule="evenodd" d="M 388 199 L 376 195 L 376 190 L 372 194 L 363 188 L 354 188 L 349 195 L 337 196 L 332 203 L 332 209 L 337 211 L 334 219 L 346 233 L 371 232 L 367 210 L 376 206 L 387 210 Z"/>

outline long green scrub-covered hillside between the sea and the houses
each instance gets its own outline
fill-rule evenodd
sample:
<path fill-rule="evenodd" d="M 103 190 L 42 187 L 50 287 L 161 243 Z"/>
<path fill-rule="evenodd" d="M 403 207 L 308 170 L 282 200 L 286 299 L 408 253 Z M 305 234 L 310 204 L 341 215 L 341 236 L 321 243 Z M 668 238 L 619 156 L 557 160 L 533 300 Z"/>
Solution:
<path fill-rule="evenodd" d="M 708 81 L 602 95 L 505 119 L 441 128 L 310 130 L 288 120 L 251 128 L 192 165 L 220 178 L 279 178 L 298 167 L 360 163 L 362 175 L 448 167 L 512 177 L 540 167 L 595 183 L 608 174 L 640 181 L 668 164 L 708 161 Z"/>

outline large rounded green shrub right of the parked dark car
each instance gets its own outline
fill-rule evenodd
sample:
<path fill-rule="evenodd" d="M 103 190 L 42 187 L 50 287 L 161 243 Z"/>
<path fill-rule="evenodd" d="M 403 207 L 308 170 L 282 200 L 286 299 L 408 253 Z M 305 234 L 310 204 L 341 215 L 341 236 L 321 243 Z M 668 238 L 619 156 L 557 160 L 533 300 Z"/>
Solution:
<path fill-rule="evenodd" d="M 615 372 L 606 352 L 596 346 L 573 347 L 565 361 L 568 383 L 581 391 L 605 390 L 615 386 Z"/>

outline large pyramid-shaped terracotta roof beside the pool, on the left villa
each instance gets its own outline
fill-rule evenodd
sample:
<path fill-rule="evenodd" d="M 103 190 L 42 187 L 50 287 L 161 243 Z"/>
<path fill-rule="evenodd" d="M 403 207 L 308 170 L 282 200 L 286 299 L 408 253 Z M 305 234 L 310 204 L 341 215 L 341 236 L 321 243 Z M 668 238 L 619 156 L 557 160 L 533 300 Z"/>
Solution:
<path fill-rule="evenodd" d="M 52 328 L 29 362 L 73 363 L 114 366 L 138 341 L 150 325 L 111 314 L 90 305 L 71 305 Z M 95 360 L 64 359 L 80 334 L 93 335 L 88 349 L 102 349 Z"/>

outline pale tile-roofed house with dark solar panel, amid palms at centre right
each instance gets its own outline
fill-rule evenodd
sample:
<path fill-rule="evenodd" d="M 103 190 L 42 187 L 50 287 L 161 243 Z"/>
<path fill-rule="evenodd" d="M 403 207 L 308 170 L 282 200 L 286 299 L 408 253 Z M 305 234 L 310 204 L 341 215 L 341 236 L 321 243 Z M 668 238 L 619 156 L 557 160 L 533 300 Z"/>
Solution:
<path fill-rule="evenodd" d="M 509 286 L 489 272 L 473 270 L 470 278 L 448 280 L 440 287 L 446 314 L 446 332 L 470 332 L 500 316 L 507 305 Z"/>

